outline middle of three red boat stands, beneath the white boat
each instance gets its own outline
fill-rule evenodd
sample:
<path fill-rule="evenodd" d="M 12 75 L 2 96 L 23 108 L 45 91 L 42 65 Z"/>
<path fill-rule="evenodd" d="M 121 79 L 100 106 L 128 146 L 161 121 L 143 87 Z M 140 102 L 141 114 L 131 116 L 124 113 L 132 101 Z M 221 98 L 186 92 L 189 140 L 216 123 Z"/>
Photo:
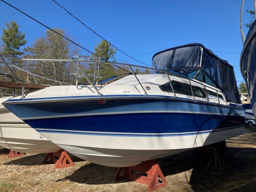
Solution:
<path fill-rule="evenodd" d="M 48 161 L 49 157 L 50 160 Z M 74 166 L 74 163 L 71 160 L 70 156 L 63 149 L 54 153 L 48 153 L 44 158 L 43 163 L 55 164 L 55 169 L 62 169 Z"/>

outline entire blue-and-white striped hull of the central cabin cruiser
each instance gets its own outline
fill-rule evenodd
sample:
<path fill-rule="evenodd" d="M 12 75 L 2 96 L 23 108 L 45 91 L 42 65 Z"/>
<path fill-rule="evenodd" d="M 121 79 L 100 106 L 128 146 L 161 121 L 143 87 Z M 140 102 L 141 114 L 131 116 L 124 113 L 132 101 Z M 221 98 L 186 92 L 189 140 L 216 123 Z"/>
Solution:
<path fill-rule="evenodd" d="M 113 167 L 217 143 L 244 128 L 242 108 L 184 99 L 98 97 L 6 107 L 71 154 Z"/>

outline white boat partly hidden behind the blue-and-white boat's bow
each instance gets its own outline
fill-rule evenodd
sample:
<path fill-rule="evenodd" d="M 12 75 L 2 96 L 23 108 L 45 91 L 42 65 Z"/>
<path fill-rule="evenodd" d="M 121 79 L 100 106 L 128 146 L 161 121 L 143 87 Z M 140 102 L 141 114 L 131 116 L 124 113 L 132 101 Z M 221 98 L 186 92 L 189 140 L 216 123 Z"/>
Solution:
<path fill-rule="evenodd" d="M 51 153 L 60 150 L 43 135 L 6 109 L 2 102 L 11 97 L 0 98 L 0 146 L 21 153 Z"/>

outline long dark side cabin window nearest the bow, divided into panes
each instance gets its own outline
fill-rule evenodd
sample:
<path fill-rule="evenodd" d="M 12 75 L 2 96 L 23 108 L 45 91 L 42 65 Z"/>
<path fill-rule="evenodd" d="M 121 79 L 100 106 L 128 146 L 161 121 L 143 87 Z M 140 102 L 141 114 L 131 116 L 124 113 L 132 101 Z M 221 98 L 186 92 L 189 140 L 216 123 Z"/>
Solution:
<path fill-rule="evenodd" d="M 189 84 L 172 81 L 172 87 L 175 93 L 192 96 L 192 91 Z M 172 93 L 172 87 L 169 82 L 160 85 L 162 91 Z M 204 91 L 200 87 L 192 86 L 193 94 L 195 97 L 206 97 Z"/>

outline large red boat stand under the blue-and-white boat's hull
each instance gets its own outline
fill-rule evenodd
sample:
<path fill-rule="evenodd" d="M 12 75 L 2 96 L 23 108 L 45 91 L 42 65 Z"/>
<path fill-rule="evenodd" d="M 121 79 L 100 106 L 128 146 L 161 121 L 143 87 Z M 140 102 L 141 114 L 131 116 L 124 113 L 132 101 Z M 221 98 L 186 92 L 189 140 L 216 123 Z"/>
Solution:
<path fill-rule="evenodd" d="M 122 170 L 123 175 L 120 176 Z M 147 176 L 138 175 L 134 172 L 145 173 Z M 119 167 L 115 180 L 119 179 L 127 179 L 137 183 L 146 184 L 148 185 L 148 192 L 153 192 L 154 190 L 163 188 L 167 185 L 167 181 L 156 160 L 146 161 L 137 166 Z"/>

